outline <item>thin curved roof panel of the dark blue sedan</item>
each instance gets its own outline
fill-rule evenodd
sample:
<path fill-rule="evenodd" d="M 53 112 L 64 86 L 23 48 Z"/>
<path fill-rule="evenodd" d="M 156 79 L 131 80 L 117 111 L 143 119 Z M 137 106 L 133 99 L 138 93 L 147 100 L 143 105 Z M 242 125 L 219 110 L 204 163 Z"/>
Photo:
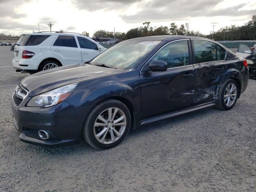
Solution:
<path fill-rule="evenodd" d="M 186 36 L 186 35 L 159 35 L 159 36 L 147 36 L 139 37 L 130 40 L 142 40 L 142 41 L 164 41 L 164 40 L 174 40 L 174 39 L 207 39 L 198 36 Z M 129 41 L 129 40 L 127 40 Z"/>

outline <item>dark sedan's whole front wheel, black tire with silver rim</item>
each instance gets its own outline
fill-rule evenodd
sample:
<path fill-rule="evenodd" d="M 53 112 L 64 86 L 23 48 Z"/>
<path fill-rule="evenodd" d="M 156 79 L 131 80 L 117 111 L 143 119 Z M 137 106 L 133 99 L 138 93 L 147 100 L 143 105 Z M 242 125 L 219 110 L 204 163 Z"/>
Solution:
<path fill-rule="evenodd" d="M 109 117 L 109 109 L 111 108 L 111 117 Z M 100 120 L 98 117 L 103 117 Z M 125 117 L 123 117 L 125 116 Z M 122 119 L 122 120 L 120 120 Z M 110 120 L 108 122 L 108 120 Z M 116 123 L 115 120 L 117 120 Z M 120 121 L 118 121 L 120 120 Z M 112 125 L 113 123 L 113 125 Z M 114 125 L 120 124 L 119 126 Z M 102 125 L 102 126 L 101 126 Z M 124 126 L 125 125 L 125 126 Z M 131 125 L 130 111 L 122 102 L 115 99 L 108 99 L 97 104 L 90 114 L 87 116 L 82 135 L 84 140 L 92 147 L 105 150 L 117 146 L 128 134 Z M 107 127 L 106 127 L 107 126 Z M 105 131 L 104 131 L 105 130 Z M 116 132 L 117 131 L 117 132 Z M 118 135 L 119 133 L 119 135 Z M 98 138 L 96 136 L 98 135 Z M 112 138 L 114 138 L 112 140 Z M 101 141 L 100 141 L 101 140 Z"/>

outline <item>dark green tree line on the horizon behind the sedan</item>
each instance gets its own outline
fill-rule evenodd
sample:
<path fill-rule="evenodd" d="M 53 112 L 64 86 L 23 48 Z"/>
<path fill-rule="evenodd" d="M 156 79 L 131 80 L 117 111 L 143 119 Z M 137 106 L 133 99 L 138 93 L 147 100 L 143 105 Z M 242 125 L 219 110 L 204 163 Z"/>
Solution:
<path fill-rule="evenodd" d="M 214 40 L 256 40 L 256 15 L 242 26 L 230 25 L 220 28 L 212 34 L 202 34 L 200 31 L 189 29 L 189 23 L 178 26 L 176 23 L 170 23 L 170 26 L 152 27 L 150 22 L 144 22 L 142 26 L 132 28 L 126 33 L 115 32 L 115 38 L 127 40 L 137 37 L 156 36 L 156 35 L 188 35 L 213 38 Z M 88 32 L 82 34 L 89 36 Z M 94 32 L 93 38 L 114 38 L 114 32 L 98 30 Z"/>

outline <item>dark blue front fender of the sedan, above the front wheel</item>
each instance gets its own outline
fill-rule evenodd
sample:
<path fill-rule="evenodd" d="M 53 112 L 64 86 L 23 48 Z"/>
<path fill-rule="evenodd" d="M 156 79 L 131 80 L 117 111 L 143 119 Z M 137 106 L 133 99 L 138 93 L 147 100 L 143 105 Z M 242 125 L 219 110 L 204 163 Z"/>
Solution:
<path fill-rule="evenodd" d="M 80 82 L 75 92 L 67 99 L 72 106 L 87 106 L 111 98 L 128 100 L 134 112 L 140 112 L 140 78 L 137 71 L 105 76 Z"/>

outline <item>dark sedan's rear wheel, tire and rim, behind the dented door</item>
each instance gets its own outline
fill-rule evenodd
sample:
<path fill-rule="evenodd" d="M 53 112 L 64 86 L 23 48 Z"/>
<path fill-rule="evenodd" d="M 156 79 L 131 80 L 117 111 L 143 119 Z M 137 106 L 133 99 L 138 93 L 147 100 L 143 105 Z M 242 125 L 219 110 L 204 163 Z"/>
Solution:
<path fill-rule="evenodd" d="M 234 88 L 232 86 L 234 86 Z M 228 92 L 229 89 L 230 91 L 232 91 L 231 93 Z M 234 79 L 226 80 L 223 84 L 221 84 L 219 88 L 217 107 L 221 110 L 232 109 L 236 104 L 238 94 L 239 94 L 239 89 L 236 81 Z"/>

